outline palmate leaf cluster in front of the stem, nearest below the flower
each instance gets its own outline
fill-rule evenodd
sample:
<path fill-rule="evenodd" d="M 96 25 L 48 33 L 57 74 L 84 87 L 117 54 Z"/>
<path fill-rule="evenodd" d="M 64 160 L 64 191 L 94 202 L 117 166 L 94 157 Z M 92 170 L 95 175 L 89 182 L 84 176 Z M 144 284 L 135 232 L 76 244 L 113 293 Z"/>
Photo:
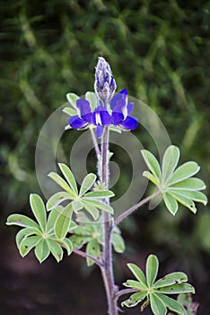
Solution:
<path fill-rule="evenodd" d="M 92 216 L 93 220 L 99 219 L 100 210 L 107 211 L 111 214 L 113 213 L 112 207 L 101 200 L 114 196 L 114 193 L 106 190 L 104 187 L 100 188 L 98 185 L 95 186 L 95 190 L 88 192 L 92 188 L 92 185 L 95 184 L 96 175 L 92 173 L 86 175 L 83 179 L 80 190 L 78 191 L 77 184 L 71 169 L 63 163 L 59 163 L 58 166 L 65 179 L 54 172 L 49 173 L 48 176 L 53 179 L 61 188 L 63 188 L 63 191 L 55 193 L 49 198 L 47 209 L 50 211 L 62 202 L 69 202 L 65 208 L 66 210 L 64 210 L 63 213 L 64 221 L 61 222 L 64 226 L 66 226 L 66 233 L 73 211 L 78 213 L 79 211 L 84 210 Z"/>

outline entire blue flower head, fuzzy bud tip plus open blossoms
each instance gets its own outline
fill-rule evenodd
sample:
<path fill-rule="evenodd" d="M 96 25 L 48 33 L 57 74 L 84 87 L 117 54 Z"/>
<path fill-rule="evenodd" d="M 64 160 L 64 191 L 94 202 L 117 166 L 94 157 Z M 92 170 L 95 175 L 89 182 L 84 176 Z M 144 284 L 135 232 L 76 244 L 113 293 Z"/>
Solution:
<path fill-rule="evenodd" d="M 105 126 L 119 126 L 124 130 L 135 130 L 138 121 L 129 114 L 133 110 L 133 103 L 127 103 L 127 89 L 114 95 L 116 83 L 112 76 L 109 63 L 102 57 L 99 58 L 95 71 L 95 94 L 98 106 L 92 112 L 90 103 L 85 99 L 77 99 L 77 115 L 68 118 L 68 123 L 73 129 L 84 129 L 90 125 L 96 127 L 95 134 L 101 138 Z M 107 109 L 109 105 L 109 110 Z"/>

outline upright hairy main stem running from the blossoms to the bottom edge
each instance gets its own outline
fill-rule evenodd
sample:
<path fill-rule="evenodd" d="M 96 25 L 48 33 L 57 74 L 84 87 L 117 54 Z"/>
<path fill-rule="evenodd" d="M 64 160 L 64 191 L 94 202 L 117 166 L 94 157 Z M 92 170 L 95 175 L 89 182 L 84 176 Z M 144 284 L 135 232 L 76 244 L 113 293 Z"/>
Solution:
<path fill-rule="evenodd" d="M 109 189 L 109 128 L 105 127 L 102 143 L 101 143 L 101 157 L 102 157 L 102 167 L 101 167 L 101 181 L 105 184 L 106 188 Z M 109 199 L 106 200 L 109 203 Z M 113 276 L 113 266 L 112 266 L 112 247 L 111 247 L 111 229 L 112 220 L 108 212 L 103 212 L 103 267 L 101 268 L 101 275 L 103 277 L 103 282 L 105 285 L 109 315 L 118 315 L 118 306 L 115 300 L 115 283 Z"/>

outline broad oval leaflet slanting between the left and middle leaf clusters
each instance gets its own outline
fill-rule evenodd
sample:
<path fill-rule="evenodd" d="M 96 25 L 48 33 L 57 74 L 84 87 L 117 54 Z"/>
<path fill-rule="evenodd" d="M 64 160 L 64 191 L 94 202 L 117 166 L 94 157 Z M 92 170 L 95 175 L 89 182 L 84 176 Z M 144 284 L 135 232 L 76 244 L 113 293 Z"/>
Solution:
<path fill-rule="evenodd" d="M 70 222 L 72 219 L 72 212 L 73 212 L 72 204 L 69 203 L 68 205 L 66 205 L 64 210 L 57 216 L 54 228 L 57 238 L 60 239 L 66 238 L 66 234 L 68 232 Z"/>

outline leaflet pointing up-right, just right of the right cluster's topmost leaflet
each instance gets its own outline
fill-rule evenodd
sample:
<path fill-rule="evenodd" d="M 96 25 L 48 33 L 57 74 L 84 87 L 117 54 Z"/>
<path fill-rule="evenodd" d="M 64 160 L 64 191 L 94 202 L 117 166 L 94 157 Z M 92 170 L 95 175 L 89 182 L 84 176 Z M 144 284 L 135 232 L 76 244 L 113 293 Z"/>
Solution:
<path fill-rule="evenodd" d="M 171 184 L 179 183 L 195 174 L 199 171 L 200 166 L 196 162 L 186 162 L 179 166 L 173 173 L 171 178 Z"/>

